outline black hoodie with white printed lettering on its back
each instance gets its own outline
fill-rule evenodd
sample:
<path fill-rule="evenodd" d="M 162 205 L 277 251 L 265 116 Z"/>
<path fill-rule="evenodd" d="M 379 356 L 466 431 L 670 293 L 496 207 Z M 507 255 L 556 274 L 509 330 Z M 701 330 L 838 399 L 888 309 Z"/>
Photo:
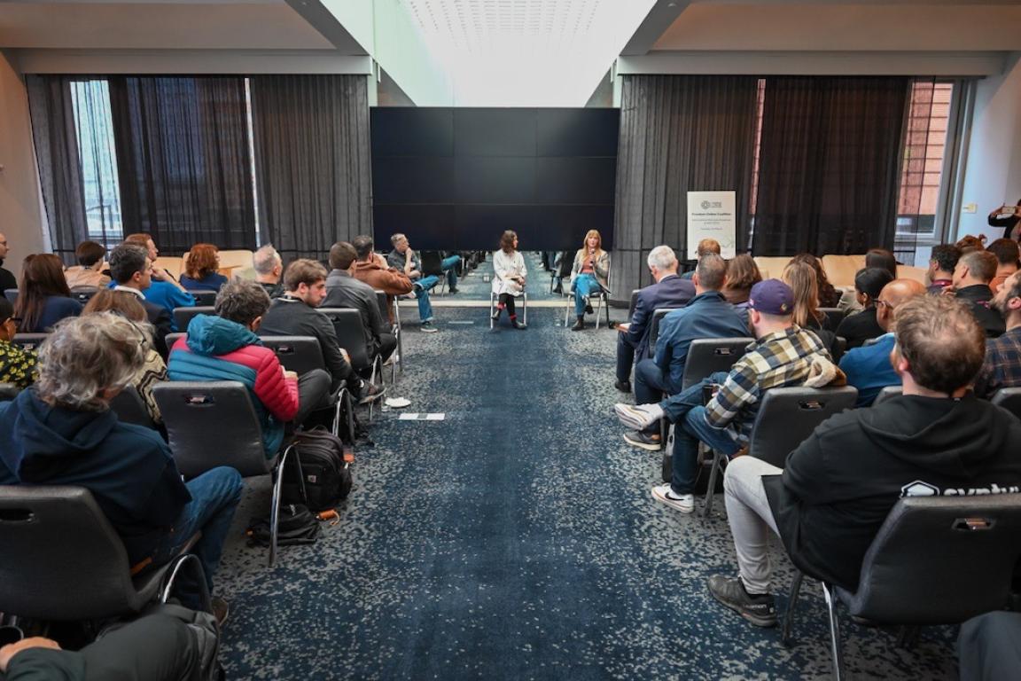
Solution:
<path fill-rule="evenodd" d="M 794 565 L 856 590 L 898 498 L 1018 492 L 1019 442 L 1021 422 L 970 392 L 903 395 L 827 420 L 763 484 Z"/>

